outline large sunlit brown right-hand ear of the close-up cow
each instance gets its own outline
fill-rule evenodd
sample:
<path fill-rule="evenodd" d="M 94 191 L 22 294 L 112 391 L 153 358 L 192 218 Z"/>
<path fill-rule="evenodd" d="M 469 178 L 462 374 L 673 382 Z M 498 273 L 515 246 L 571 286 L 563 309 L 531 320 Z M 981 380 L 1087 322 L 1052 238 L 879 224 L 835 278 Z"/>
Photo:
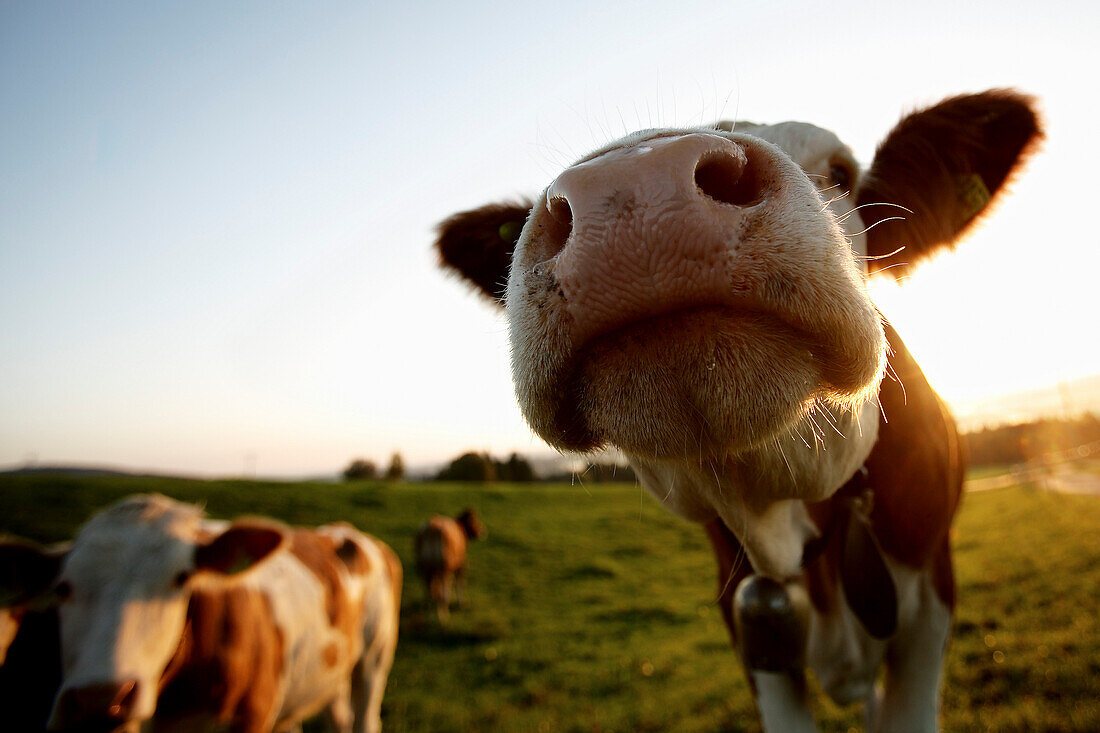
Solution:
<path fill-rule="evenodd" d="M 860 182 L 867 253 L 880 258 L 871 272 L 901 277 L 953 247 L 1042 138 L 1034 99 L 1005 89 L 953 97 L 903 118 Z"/>

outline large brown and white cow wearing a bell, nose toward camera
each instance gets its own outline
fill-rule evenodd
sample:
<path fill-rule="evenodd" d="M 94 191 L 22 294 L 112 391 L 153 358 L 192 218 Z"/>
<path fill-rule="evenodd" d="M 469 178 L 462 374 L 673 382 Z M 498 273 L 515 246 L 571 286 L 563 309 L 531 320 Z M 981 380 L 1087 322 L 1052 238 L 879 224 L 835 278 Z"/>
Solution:
<path fill-rule="evenodd" d="M 814 730 L 806 667 L 873 730 L 937 725 L 964 459 L 866 278 L 952 247 L 1041 136 L 1009 90 L 905 117 L 866 172 L 801 122 L 647 130 L 440 226 L 535 431 L 705 526 L 769 731 Z"/>

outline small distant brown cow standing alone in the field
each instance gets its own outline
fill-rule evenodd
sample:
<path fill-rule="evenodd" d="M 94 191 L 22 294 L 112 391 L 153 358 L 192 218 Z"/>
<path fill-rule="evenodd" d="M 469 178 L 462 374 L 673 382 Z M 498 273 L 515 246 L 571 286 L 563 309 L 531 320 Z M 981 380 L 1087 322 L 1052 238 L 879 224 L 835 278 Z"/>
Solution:
<path fill-rule="evenodd" d="M 440 621 L 451 613 L 451 587 L 458 601 L 465 599 L 466 545 L 485 534 L 477 513 L 466 507 L 453 519 L 433 514 L 416 533 L 416 568 L 424 579 L 428 602 Z M 457 582 L 455 582 L 457 581 Z"/>

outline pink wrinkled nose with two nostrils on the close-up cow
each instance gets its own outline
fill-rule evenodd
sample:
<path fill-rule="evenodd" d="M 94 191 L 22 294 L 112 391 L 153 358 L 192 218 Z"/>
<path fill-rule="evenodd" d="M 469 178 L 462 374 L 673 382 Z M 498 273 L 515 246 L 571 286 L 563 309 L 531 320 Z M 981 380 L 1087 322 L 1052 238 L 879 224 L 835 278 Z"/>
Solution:
<path fill-rule="evenodd" d="M 726 304 L 741 225 L 750 207 L 780 195 L 773 166 L 759 143 L 694 132 L 615 149 L 559 175 L 532 215 L 527 256 L 535 272 L 551 269 L 574 344 Z"/>

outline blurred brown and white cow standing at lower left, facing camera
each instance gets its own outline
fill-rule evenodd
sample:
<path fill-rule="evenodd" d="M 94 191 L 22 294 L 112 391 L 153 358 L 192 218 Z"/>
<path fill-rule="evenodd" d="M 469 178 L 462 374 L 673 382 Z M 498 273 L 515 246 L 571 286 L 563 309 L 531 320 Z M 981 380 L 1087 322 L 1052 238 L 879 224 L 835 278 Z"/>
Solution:
<path fill-rule="evenodd" d="M 215 521 L 135 495 L 80 527 L 54 594 L 50 730 L 378 731 L 402 567 L 349 524 Z"/>

